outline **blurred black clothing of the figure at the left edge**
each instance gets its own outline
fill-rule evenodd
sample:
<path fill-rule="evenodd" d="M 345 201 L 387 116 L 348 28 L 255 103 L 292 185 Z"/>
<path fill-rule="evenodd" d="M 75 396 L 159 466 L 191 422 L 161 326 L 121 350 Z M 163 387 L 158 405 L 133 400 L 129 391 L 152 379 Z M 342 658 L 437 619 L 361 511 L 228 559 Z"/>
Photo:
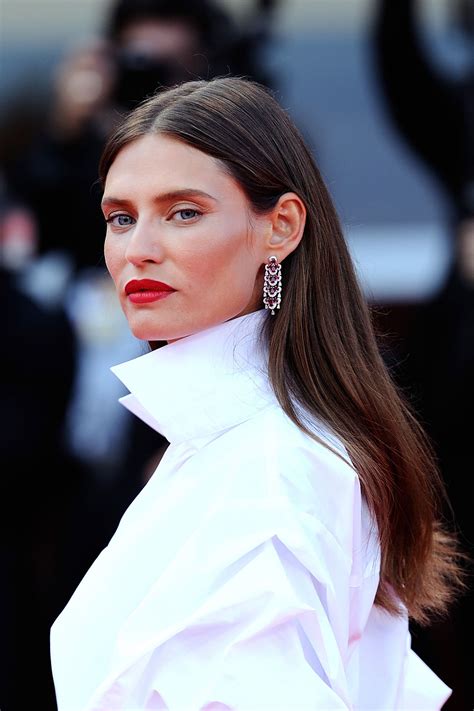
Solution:
<path fill-rule="evenodd" d="M 40 307 L 3 270 L 0 299 L 0 707 L 49 711 L 49 625 L 63 601 L 58 534 L 80 476 L 62 439 L 76 339 L 62 311 Z"/>

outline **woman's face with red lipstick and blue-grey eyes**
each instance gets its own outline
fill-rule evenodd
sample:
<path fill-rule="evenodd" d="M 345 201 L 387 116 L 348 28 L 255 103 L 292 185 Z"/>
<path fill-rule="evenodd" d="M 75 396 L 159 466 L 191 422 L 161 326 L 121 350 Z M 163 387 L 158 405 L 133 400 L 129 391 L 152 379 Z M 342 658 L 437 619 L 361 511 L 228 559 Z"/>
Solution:
<path fill-rule="evenodd" d="M 260 307 L 268 221 L 214 158 L 138 138 L 112 163 L 102 204 L 107 268 L 137 338 L 172 341 Z"/>

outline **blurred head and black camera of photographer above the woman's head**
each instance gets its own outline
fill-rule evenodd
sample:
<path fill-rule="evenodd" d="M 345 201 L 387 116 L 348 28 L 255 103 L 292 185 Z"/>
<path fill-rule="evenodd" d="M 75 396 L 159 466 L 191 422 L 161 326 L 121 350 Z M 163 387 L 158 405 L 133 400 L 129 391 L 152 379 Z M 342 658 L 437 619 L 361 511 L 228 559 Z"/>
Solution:
<path fill-rule="evenodd" d="M 258 53 L 273 6 L 260 2 L 242 30 L 209 0 L 121 0 L 105 29 L 117 70 L 113 99 L 131 109 L 159 86 L 228 73 L 269 84 Z"/>

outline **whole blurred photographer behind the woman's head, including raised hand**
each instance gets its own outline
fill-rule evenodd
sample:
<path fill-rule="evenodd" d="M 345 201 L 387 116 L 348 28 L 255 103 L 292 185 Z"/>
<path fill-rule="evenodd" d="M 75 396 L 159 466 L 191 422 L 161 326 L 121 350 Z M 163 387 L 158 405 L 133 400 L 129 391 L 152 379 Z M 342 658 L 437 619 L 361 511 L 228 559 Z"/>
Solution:
<path fill-rule="evenodd" d="M 6 166 L 17 201 L 36 217 L 40 254 L 62 250 L 74 270 L 102 263 L 98 159 L 120 116 L 145 96 L 218 74 L 271 83 L 260 52 L 274 4 L 257 3 L 244 27 L 213 0 L 109 6 L 101 37 L 76 47 L 58 67 L 47 124 Z M 71 219 L 71 211 L 81 219 Z"/>

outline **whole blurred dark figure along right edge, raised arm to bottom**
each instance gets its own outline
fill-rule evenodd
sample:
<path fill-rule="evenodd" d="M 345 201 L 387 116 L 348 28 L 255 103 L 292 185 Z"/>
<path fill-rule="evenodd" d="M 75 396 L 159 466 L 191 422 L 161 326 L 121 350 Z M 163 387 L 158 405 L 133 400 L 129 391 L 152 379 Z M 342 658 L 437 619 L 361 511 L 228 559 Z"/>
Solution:
<path fill-rule="evenodd" d="M 439 458 L 465 550 L 474 560 L 474 0 L 449 5 L 465 51 L 455 74 L 431 56 L 418 0 L 377 0 L 373 66 L 387 115 L 446 199 L 452 260 L 444 283 L 416 305 L 399 379 L 413 393 Z M 446 711 L 471 708 L 474 591 L 449 620 L 413 629 L 414 647 L 453 687 Z"/>

